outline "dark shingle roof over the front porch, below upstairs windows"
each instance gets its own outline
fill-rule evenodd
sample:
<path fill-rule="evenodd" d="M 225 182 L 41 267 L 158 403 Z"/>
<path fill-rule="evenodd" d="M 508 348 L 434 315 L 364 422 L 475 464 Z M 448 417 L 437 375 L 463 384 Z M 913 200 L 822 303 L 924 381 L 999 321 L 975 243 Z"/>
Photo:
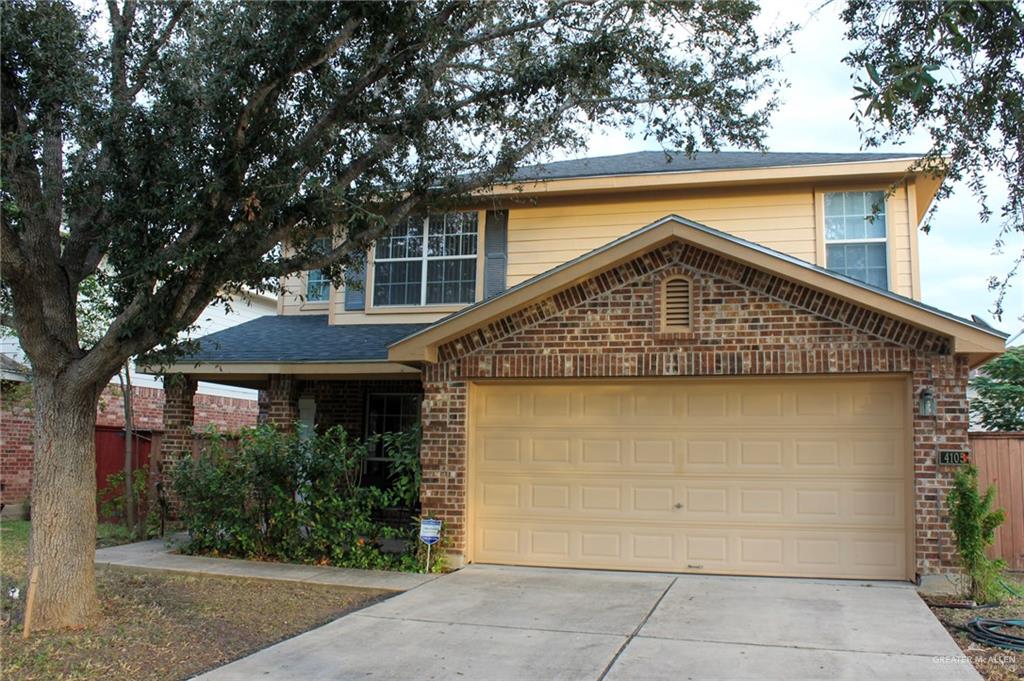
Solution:
<path fill-rule="evenodd" d="M 180 364 L 376 361 L 387 346 L 426 324 L 328 325 L 327 314 L 267 314 L 198 339 Z"/>

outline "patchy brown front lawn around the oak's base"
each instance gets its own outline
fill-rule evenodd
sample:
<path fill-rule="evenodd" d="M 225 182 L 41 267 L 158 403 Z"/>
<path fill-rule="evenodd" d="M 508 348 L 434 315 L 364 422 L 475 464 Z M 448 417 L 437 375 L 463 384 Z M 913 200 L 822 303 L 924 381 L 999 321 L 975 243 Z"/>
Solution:
<path fill-rule="evenodd" d="M 22 640 L 28 522 L 0 524 L 0 676 L 184 679 L 379 600 L 387 592 L 97 566 L 100 620 Z M 104 529 L 97 543 L 117 543 Z M 19 598 L 7 596 L 11 586 Z"/>

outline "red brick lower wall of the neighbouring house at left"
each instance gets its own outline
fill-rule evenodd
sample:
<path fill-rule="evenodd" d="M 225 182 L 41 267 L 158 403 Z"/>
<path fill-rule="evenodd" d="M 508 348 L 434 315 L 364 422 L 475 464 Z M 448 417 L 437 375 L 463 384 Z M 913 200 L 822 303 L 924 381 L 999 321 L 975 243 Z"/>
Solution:
<path fill-rule="evenodd" d="M 164 391 L 136 386 L 132 393 L 135 397 L 135 428 L 164 430 Z M 214 426 L 219 430 L 234 431 L 256 425 L 258 408 L 255 399 L 196 395 L 195 406 L 195 427 L 198 430 Z M 124 393 L 119 386 L 110 385 L 100 395 L 96 425 L 124 427 Z M 32 488 L 32 427 L 31 399 L 11 400 L 5 395 L 0 409 L 0 498 L 5 504 L 25 501 Z M 173 437 L 170 444 L 174 445 Z M 190 437 L 187 444 L 191 446 Z"/>

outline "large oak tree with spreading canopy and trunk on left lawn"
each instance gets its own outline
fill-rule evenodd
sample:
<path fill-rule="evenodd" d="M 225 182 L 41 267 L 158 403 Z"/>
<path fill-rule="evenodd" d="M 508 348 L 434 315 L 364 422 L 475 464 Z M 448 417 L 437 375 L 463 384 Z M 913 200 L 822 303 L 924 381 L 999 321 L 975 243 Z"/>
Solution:
<path fill-rule="evenodd" d="M 756 3 L 7 0 L 2 278 L 35 375 L 38 627 L 96 612 L 93 427 L 127 357 L 223 292 L 322 267 L 595 126 L 760 146 Z M 329 253 L 314 237 L 339 237 Z M 294 249 L 285 251 L 281 244 Z M 100 267 L 100 264 L 102 266 Z M 115 315 L 76 317 L 103 280 Z"/>

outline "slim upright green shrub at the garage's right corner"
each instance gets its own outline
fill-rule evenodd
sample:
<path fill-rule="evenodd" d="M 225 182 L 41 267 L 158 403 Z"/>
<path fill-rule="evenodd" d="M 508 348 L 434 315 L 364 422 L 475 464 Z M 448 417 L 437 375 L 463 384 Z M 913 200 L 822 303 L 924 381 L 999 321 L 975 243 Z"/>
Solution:
<path fill-rule="evenodd" d="M 985 553 L 995 540 L 995 529 L 1006 519 L 1002 509 L 992 510 L 994 499 L 994 486 L 989 485 L 984 495 L 978 490 L 978 469 L 974 466 L 956 472 L 946 496 L 956 550 L 968 578 L 968 596 L 977 603 L 998 600 L 996 586 L 1006 567 L 1002 560 L 989 558 Z"/>

